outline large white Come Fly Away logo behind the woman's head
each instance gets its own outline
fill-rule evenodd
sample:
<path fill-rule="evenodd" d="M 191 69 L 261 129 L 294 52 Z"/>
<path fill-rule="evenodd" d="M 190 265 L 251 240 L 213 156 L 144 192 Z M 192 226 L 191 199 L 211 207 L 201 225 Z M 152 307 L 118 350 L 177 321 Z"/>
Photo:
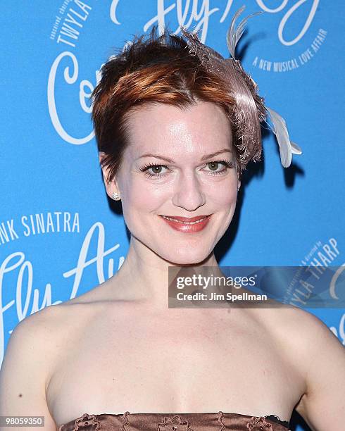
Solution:
<path fill-rule="evenodd" d="M 58 49 L 50 65 L 47 83 L 51 123 L 68 144 L 86 144 L 94 138 L 89 98 L 99 82 L 101 64 L 95 65 L 91 73 L 85 72 L 80 65 L 85 56 L 89 58 L 88 42 L 91 39 L 96 38 L 99 49 L 104 51 L 105 46 L 116 45 L 114 35 L 115 40 L 124 43 L 125 36 L 121 38 L 120 35 L 149 32 L 153 25 L 163 32 L 165 25 L 171 28 L 172 23 L 176 23 L 172 28 L 175 33 L 179 33 L 180 26 L 184 25 L 198 31 L 201 41 L 206 42 L 211 22 L 219 26 L 219 34 L 225 37 L 226 25 L 245 4 L 247 7 L 237 25 L 250 13 L 261 11 L 251 25 L 254 32 L 263 30 L 266 37 L 262 44 L 253 44 L 252 49 L 258 52 L 251 54 L 251 65 L 269 73 L 287 73 L 308 65 L 325 44 L 327 30 L 317 26 L 315 21 L 320 2 L 227 0 L 220 4 L 215 0 L 151 0 L 150 5 L 144 5 L 139 0 L 112 0 L 110 3 L 63 0 L 56 10 L 49 37 Z M 102 28 L 106 30 L 102 32 Z M 265 49 L 266 45 L 269 45 L 268 49 Z M 68 113 L 65 95 L 73 102 L 68 106 Z M 73 129 L 73 125 L 78 127 Z"/>

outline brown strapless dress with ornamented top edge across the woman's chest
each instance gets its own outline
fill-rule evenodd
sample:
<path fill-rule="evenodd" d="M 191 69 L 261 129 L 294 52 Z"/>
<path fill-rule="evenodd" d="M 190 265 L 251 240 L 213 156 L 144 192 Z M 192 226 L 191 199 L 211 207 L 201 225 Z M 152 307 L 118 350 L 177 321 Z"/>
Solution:
<path fill-rule="evenodd" d="M 289 431 L 289 422 L 278 416 L 240 413 L 101 413 L 61 425 L 58 431 Z"/>

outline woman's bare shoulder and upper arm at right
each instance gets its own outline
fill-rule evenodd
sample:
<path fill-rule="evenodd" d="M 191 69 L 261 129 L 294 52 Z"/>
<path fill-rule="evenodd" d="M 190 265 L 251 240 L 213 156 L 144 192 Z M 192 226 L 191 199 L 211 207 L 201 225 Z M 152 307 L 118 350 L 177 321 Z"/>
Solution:
<path fill-rule="evenodd" d="M 263 313 L 265 316 L 265 313 Z M 312 430 L 344 429 L 345 349 L 313 313 L 282 307 L 266 313 L 284 355 L 301 375 L 304 394 L 296 406 Z"/>

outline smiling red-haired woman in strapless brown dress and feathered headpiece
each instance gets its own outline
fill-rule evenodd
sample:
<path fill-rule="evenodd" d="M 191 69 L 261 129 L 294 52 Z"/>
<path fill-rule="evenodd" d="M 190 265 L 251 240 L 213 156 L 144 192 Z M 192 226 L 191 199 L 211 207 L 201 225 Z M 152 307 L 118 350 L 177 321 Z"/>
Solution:
<path fill-rule="evenodd" d="M 300 152 L 234 60 L 241 32 L 232 25 L 227 61 L 184 36 L 152 32 L 103 66 L 94 127 L 130 249 L 110 280 L 15 327 L 0 413 L 60 431 L 284 431 L 296 408 L 313 430 L 343 430 L 344 351 L 318 318 L 168 308 L 169 266 L 218 267 L 267 111 L 283 165 Z"/>

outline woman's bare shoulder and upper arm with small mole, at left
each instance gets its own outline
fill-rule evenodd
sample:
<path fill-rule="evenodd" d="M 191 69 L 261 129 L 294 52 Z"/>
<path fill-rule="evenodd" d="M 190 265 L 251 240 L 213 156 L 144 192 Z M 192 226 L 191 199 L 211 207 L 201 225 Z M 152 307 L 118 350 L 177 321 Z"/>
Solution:
<path fill-rule="evenodd" d="M 51 375 L 94 310 L 92 302 L 66 301 L 43 308 L 15 326 L 0 370 L 0 416 L 44 416 L 56 430 L 46 394 Z"/>

